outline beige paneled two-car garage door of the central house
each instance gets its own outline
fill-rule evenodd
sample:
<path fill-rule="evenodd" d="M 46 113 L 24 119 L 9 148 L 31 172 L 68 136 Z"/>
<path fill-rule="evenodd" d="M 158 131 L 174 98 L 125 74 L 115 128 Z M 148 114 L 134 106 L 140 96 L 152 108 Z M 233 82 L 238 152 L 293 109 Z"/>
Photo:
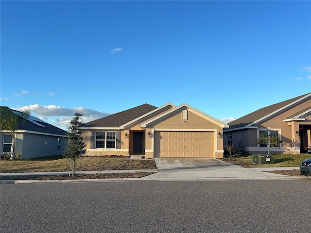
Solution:
<path fill-rule="evenodd" d="M 155 131 L 155 157 L 214 158 L 214 132 Z"/>

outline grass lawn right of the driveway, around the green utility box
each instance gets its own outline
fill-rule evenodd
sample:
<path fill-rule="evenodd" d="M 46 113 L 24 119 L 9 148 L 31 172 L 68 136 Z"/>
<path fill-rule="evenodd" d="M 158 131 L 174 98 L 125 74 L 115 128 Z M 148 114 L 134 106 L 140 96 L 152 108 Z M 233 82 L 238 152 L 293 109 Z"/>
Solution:
<path fill-rule="evenodd" d="M 236 164 L 243 167 L 297 167 L 301 162 L 310 158 L 311 154 L 276 154 L 274 164 L 254 164 L 252 163 L 252 156 L 250 154 L 243 154 L 239 158 L 224 158 L 228 163 Z"/>

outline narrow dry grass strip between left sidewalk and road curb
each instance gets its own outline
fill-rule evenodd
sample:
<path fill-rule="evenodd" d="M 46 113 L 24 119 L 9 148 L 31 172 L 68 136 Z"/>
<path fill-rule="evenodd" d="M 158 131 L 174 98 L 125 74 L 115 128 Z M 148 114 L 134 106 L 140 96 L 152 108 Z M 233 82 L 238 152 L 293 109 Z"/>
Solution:
<path fill-rule="evenodd" d="M 140 178 L 154 174 L 155 172 L 133 172 L 133 173 L 114 173 L 114 174 L 76 174 L 74 177 L 69 175 L 52 176 L 0 176 L 0 180 L 35 180 L 35 181 L 55 181 L 55 180 L 82 180 L 82 179 L 114 179 L 114 178 Z"/>

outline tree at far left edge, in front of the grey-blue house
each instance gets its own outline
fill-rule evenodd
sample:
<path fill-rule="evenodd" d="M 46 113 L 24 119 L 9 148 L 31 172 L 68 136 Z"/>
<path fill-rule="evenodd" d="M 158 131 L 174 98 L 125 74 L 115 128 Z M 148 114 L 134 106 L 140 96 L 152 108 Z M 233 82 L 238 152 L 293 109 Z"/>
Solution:
<path fill-rule="evenodd" d="M 13 112 L 7 106 L 0 106 L 0 128 L 12 133 L 11 160 L 15 159 L 15 132 L 18 126 L 29 117 L 29 111 Z"/>

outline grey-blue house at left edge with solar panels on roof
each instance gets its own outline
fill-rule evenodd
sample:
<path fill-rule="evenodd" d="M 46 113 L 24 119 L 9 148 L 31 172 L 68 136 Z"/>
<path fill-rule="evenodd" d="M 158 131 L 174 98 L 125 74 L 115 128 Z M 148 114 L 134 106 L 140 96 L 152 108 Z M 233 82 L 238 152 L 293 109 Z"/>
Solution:
<path fill-rule="evenodd" d="M 18 111 L 12 110 L 18 114 Z M 60 155 L 65 150 L 66 131 L 30 116 L 15 131 L 15 154 L 23 159 Z M 0 152 L 11 152 L 12 133 L 0 131 Z"/>

